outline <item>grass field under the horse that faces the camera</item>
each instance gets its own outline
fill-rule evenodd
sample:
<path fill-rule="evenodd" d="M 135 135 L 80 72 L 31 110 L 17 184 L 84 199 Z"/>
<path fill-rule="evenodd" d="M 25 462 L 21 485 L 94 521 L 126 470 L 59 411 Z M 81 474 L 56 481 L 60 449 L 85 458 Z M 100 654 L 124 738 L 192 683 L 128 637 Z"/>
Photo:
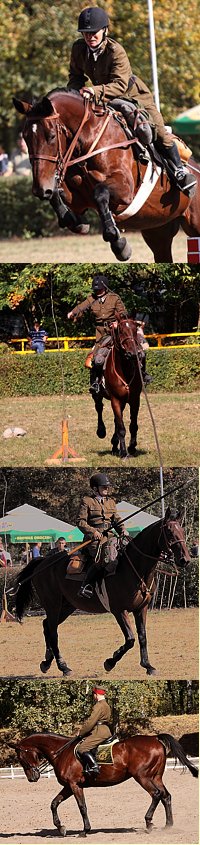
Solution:
<path fill-rule="evenodd" d="M 197 393 L 151 393 L 151 408 L 156 423 L 164 466 L 199 466 L 199 403 Z M 111 455 L 113 414 L 105 402 L 104 420 L 107 437 L 96 436 L 96 412 L 90 395 L 67 396 L 70 445 L 80 456 L 73 465 L 120 466 L 119 458 Z M 125 425 L 129 442 L 129 409 Z M 60 396 L 7 398 L 1 418 L 1 466 L 44 466 L 61 445 L 62 398 Z M 22 426 L 22 438 L 3 440 L 8 426 Z M 81 460 L 82 459 L 82 460 Z M 85 459 L 85 460 L 84 460 Z M 83 463 L 84 461 L 84 463 Z M 139 412 L 138 452 L 129 458 L 130 466 L 158 465 L 154 434 L 144 397 Z"/>

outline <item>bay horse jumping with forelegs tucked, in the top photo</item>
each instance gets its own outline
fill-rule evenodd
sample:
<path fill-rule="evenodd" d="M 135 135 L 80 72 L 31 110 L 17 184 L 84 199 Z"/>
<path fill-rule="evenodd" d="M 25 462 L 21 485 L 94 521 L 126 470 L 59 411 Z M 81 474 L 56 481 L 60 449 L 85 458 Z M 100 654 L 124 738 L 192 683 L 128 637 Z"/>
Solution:
<path fill-rule="evenodd" d="M 194 197 L 180 192 L 162 170 L 142 207 L 127 211 L 126 219 L 147 164 L 136 161 L 136 139 L 127 140 L 113 110 L 95 107 L 79 92 L 62 88 L 32 103 L 16 98 L 13 102 L 26 116 L 24 138 L 32 165 L 33 193 L 50 200 L 61 225 L 70 217 L 73 225 L 69 223 L 69 228 L 82 231 L 80 215 L 88 208 L 95 209 L 103 238 L 121 261 L 130 258 L 131 248 L 120 230 L 141 231 L 155 262 L 173 260 L 172 241 L 180 226 L 191 237 L 200 235 L 200 166 L 193 159 L 188 168 L 194 168 L 197 178 Z M 120 217 L 122 214 L 125 217 Z"/>

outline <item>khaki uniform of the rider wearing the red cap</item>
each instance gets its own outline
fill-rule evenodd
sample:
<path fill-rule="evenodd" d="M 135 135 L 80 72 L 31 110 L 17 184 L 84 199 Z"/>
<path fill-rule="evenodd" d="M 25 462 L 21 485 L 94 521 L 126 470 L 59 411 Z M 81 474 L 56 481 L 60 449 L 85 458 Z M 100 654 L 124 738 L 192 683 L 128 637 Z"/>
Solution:
<path fill-rule="evenodd" d="M 97 701 L 94 705 L 91 716 L 83 722 L 79 731 L 79 735 L 81 737 L 84 737 L 85 734 L 90 734 L 78 745 L 78 751 L 80 751 L 81 754 L 90 751 L 92 748 L 96 748 L 100 742 L 103 742 L 104 739 L 108 739 L 109 736 L 111 736 L 109 728 L 110 718 L 111 710 L 109 704 L 105 698 L 102 698 L 102 701 Z"/>

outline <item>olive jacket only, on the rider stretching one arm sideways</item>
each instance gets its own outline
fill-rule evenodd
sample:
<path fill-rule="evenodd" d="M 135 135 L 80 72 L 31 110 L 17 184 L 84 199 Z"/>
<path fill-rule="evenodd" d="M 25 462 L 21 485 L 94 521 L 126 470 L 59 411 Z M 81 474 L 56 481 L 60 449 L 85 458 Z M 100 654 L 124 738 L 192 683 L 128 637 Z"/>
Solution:
<path fill-rule="evenodd" d="M 76 305 L 71 312 L 72 317 L 81 317 L 85 311 L 90 311 L 95 319 L 96 324 L 96 341 L 101 340 L 105 335 L 105 329 L 108 329 L 113 320 L 119 317 L 126 317 L 127 311 L 120 296 L 117 293 L 108 291 L 105 296 L 95 298 L 93 294 L 89 294 L 84 302 Z"/>

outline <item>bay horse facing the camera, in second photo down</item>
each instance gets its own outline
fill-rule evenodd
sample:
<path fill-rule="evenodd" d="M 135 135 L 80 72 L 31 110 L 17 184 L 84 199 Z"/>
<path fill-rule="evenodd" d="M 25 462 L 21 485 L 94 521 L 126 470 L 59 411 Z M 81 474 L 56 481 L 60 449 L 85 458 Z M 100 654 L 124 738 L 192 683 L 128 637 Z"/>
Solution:
<path fill-rule="evenodd" d="M 99 393 L 92 394 L 98 415 L 97 435 L 106 436 L 103 422 L 103 397 L 110 399 L 114 414 L 115 431 L 111 440 L 112 454 L 126 458 L 134 455 L 137 445 L 138 412 L 142 379 L 138 365 L 137 326 L 135 320 L 118 319 L 117 328 L 111 328 L 112 347 L 105 365 L 105 391 L 100 383 Z M 91 371 L 92 372 L 92 371 Z M 92 373 L 93 377 L 93 373 Z M 130 407 L 130 443 L 126 449 L 126 429 L 123 412 Z"/>

